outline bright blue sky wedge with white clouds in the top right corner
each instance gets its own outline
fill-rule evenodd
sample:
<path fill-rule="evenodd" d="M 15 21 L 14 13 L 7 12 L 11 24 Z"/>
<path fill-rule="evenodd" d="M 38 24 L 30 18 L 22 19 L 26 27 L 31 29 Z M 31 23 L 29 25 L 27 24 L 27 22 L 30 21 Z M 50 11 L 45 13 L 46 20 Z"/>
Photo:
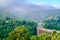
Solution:
<path fill-rule="evenodd" d="M 60 7 L 60 0 L 27 0 L 27 1 L 35 3 L 37 5 L 47 4 L 54 7 Z"/>

